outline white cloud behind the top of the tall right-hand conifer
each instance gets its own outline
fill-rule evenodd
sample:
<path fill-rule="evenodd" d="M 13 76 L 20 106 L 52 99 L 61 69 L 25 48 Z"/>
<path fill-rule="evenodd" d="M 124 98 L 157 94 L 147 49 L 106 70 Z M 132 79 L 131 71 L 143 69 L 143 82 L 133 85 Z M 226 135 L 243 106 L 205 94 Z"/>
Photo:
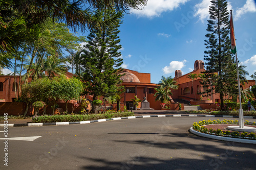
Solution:
<path fill-rule="evenodd" d="M 201 3 L 195 5 L 195 14 L 194 16 L 198 16 L 199 20 L 201 20 L 202 23 L 204 23 L 205 19 L 208 19 L 209 14 L 209 6 L 211 5 L 210 0 L 202 0 Z M 230 11 L 232 9 L 231 4 L 227 3 L 227 11 Z"/>

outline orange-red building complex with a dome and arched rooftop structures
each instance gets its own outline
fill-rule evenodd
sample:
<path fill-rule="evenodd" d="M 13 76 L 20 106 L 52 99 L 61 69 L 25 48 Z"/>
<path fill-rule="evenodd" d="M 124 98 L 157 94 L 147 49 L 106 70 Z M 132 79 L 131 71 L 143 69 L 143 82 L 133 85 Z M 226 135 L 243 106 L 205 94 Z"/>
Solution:
<path fill-rule="evenodd" d="M 172 98 L 175 102 L 181 101 L 178 99 L 182 99 L 183 101 L 190 102 L 191 105 L 199 105 L 200 103 L 215 103 L 220 102 L 219 94 L 212 94 L 208 97 L 202 97 L 199 92 L 205 91 L 201 84 L 200 78 L 197 78 L 192 81 L 187 78 L 187 76 L 191 74 L 201 74 L 204 69 L 204 63 L 201 60 L 196 60 L 194 64 L 194 70 L 189 72 L 188 74 L 182 75 L 181 70 L 175 71 L 174 80 L 179 85 L 177 90 L 172 90 Z M 124 86 L 124 93 L 121 94 L 121 103 L 126 106 L 127 109 L 130 107 L 134 107 L 133 101 L 131 99 L 135 99 L 135 95 L 140 100 L 143 100 L 143 97 L 146 97 L 146 100 L 150 102 L 150 108 L 160 110 L 160 101 L 155 101 L 155 92 L 154 88 L 157 88 L 158 85 L 151 83 L 151 74 L 142 73 L 130 69 L 123 69 L 120 74 L 125 74 L 121 76 L 120 79 L 123 81 L 122 86 Z M 70 72 L 66 72 L 66 76 L 71 78 L 73 75 Z M 160 78 L 160 75 L 159 75 Z M 29 82 L 31 78 L 29 78 Z M 248 80 L 248 84 L 242 86 L 243 89 L 249 88 L 250 86 L 255 85 L 254 80 Z M 19 77 L 16 76 L 16 89 L 18 87 Z M 0 76 L 0 102 L 13 102 L 15 99 L 15 90 L 14 90 L 14 76 Z M 101 99 L 101 98 L 100 98 Z M 90 100 L 90 96 L 89 96 Z M 141 107 L 139 103 L 138 108 Z"/>

